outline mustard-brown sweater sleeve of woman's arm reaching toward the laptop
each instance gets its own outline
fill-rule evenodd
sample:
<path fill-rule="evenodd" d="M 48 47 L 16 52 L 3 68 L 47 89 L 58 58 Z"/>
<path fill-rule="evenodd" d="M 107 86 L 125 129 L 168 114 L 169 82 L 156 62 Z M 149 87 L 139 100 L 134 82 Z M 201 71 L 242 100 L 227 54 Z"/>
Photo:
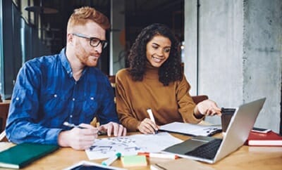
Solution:
<path fill-rule="evenodd" d="M 196 105 L 192 100 L 189 91 L 190 84 L 183 75 L 183 79 L 180 81 L 176 89 L 176 96 L 179 106 L 178 112 L 180 112 L 180 115 L 183 117 L 183 122 L 197 124 L 201 122 L 204 117 L 197 119 L 194 116 L 194 109 Z"/>

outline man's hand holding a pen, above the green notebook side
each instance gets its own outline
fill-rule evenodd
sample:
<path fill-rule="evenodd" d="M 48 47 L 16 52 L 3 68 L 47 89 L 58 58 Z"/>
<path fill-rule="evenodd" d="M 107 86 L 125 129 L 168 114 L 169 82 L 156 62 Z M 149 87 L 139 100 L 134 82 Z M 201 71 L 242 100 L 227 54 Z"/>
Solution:
<path fill-rule="evenodd" d="M 98 136 L 98 129 L 90 124 L 80 124 L 81 128 L 61 131 L 58 144 L 62 147 L 71 147 L 75 150 L 85 150 L 93 145 Z"/>

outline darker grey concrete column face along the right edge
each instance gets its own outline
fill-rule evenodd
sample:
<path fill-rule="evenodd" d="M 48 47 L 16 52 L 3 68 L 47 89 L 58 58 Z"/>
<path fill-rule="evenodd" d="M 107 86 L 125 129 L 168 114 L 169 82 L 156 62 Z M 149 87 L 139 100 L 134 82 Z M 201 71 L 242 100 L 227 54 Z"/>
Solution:
<path fill-rule="evenodd" d="M 282 1 L 244 1 L 243 102 L 265 96 L 257 126 L 281 123 Z M 281 131 L 282 133 L 282 131 Z"/>

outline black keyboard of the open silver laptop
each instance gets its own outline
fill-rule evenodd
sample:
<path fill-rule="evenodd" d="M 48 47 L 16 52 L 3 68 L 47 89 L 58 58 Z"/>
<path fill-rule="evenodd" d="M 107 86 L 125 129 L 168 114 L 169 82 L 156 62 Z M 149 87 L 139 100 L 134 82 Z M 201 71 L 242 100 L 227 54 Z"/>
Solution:
<path fill-rule="evenodd" d="M 220 138 L 214 138 L 214 140 L 211 140 L 204 145 L 200 145 L 198 148 L 195 148 L 195 150 L 186 152 L 185 155 L 214 159 L 216 152 L 219 150 L 219 146 L 221 145 L 221 141 L 222 139 Z"/>

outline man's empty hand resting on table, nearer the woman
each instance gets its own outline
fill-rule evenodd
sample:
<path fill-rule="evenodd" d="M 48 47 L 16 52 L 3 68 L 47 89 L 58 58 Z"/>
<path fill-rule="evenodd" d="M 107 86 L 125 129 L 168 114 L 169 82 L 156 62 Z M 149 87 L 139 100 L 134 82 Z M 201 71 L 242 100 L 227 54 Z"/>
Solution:
<path fill-rule="evenodd" d="M 121 124 L 115 122 L 109 122 L 99 126 L 99 131 L 106 131 L 108 136 L 111 136 L 111 133 L 114 133 L 114 136 L 126 136 L 126 129 Z"/>

